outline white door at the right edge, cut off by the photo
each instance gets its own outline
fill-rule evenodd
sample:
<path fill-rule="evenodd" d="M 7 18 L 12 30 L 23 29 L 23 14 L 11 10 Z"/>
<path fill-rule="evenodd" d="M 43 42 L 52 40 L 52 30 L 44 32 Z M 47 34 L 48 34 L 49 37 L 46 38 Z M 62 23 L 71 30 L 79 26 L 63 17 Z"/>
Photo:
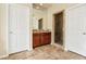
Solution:
<path fill-rule="evenodd" d="M 86 4 L 66 11 L 66 49 L 86 56 Z"/>

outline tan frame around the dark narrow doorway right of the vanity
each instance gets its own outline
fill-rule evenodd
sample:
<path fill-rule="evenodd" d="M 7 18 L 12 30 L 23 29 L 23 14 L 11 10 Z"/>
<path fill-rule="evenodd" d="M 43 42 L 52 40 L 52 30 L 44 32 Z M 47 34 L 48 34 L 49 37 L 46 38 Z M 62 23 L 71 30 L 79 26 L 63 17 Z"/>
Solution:
<path fill-rule="evenodd" d="M 53 44 L 56 44 L 54 43 L 54 14 L 59 14 L 59 13 L 63 13 L 63 44 L 62 44 L 62 48 L 64 49 L 65 48 L 65 11 L 64 10 L 61 10 L 61 11 L 59 11 L 59 12 L 57 12 L 57 13 L 53 13 L 52 14 L 52 35 L 53 35 Z"/>

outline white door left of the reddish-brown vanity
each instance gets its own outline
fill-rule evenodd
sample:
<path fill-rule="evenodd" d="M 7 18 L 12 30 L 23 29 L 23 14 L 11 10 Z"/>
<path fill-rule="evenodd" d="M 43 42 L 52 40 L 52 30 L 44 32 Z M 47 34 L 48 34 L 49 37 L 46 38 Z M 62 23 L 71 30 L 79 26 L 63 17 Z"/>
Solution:
<path fill-rule="evenodd" d="M 15 53 L 29 48 L 29 9 L 9 5 L 9 51 Z"/>

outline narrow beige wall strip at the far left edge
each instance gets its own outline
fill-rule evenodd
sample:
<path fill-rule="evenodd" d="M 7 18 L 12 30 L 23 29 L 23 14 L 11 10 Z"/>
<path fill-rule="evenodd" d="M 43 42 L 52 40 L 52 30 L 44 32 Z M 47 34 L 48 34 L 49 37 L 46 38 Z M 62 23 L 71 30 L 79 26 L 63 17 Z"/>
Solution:
<path fill-rule="evenodd" d="M 8 51 L 8 18 L 7 4 L 0 4 L 0 57 Z"/>

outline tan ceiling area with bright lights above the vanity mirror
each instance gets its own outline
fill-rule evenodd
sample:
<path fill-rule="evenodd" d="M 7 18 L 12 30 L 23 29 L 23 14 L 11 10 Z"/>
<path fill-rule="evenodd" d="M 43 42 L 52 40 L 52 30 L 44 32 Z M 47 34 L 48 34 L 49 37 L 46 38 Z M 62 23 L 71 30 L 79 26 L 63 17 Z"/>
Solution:
<path fill-rule="evenodd" d="M 33 3 L 34 9 L 44 10 L 48 9 L 52 5 L 52 3 Z"/>

